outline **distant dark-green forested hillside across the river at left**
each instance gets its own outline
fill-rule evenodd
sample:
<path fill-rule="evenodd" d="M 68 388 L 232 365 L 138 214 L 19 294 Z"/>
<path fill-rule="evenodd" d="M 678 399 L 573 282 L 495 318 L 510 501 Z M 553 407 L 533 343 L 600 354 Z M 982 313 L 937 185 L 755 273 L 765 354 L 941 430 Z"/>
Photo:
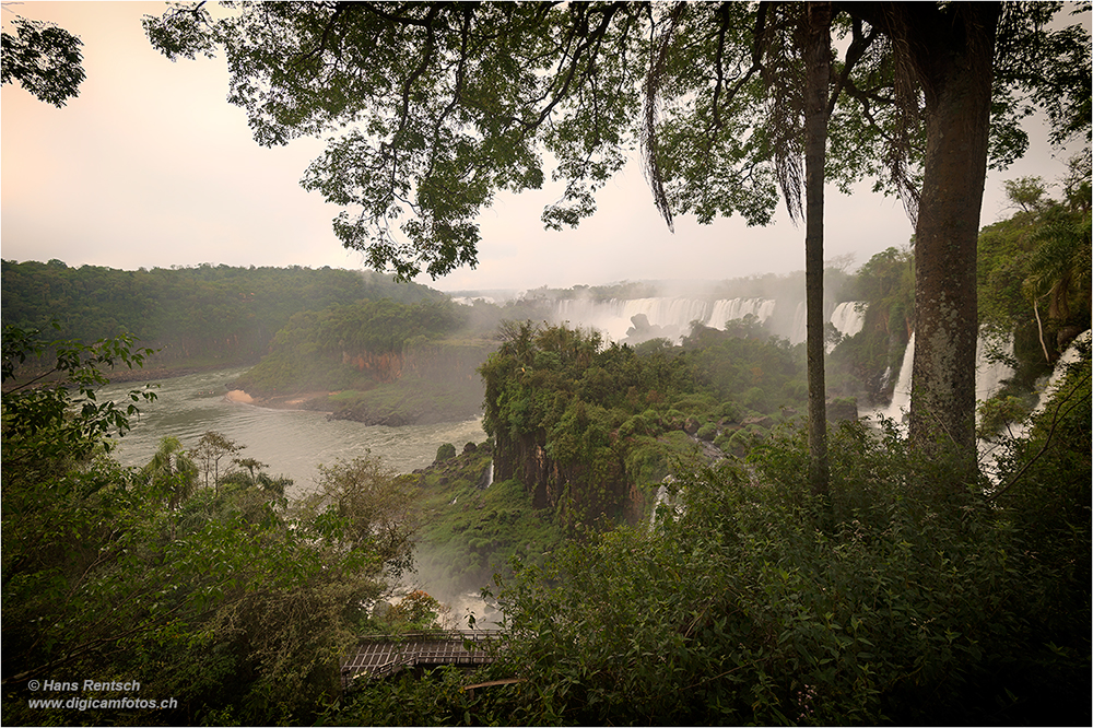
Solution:
<path fill-rule="evenodd" d="M 59 260 L 2 262 L 2 319 L 85 342 L 131 333 L 160 350 L 150 366 L 257 361 L 296 313 L 362 298 L 438 301 L 390 277 L 322 268 L 70 268 Z"/>

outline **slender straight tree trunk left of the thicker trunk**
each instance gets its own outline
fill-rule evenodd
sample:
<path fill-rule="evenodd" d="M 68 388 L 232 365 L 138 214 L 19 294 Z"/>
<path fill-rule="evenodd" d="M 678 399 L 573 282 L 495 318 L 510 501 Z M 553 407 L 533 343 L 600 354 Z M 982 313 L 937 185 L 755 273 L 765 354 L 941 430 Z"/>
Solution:
<path fill-rule="evenodd" d="M 806 7 L 804 84 L 804 298 L 809 379 L 809 484 L 827 492 L 827 412 L 824 383 L 823 184 L 827 158 L 827 86 L 831 80 L 830 2 Z"/>

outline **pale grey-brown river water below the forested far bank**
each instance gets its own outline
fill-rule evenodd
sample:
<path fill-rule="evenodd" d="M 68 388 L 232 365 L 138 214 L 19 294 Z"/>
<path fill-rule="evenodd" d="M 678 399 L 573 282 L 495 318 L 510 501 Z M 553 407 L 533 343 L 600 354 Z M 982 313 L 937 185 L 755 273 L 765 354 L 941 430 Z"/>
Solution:
<path fill-rule="evenodd" d="M 183 447 L 196 447 L 213 430 L 246 449 L 239 457 L 269 466 L 267 472 L 293 480 L 292 496 L 308 492 L 318 474 L 317 465 L 332 466 L 371 451 L 397 472 L 411 472 L 433 462 L 436 448 L 451 443 L 457 451 L 466 443 L 482 443 L 482 419 L 431 425 L 388 427 L 348 420 L 328 420 L 324 412 L 279 410 L 230 402 L 227 385 L 245 368 L 219 369 L 158 381 L 156 400 L 140 406 L 133 428 L 118 442 L 116 458 L 128 466 L 143 466 L 155 454 L 160 441 L 174 436 Z M 127 403 L 127 392 L 140 387 L 126 383 L 105 387 L 99 399 Z"/>

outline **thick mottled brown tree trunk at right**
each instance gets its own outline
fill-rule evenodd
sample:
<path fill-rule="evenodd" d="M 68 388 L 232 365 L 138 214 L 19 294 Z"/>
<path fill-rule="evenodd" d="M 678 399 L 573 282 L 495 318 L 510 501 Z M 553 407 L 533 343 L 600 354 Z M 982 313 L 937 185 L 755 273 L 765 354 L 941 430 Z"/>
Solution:
<path fill-rule="evenodd" d="M 998 3 L 908 3 L 907 38 L 926 94 L 926 164 L 915 230 L 910 442 L 955 448 L 974 477 L 976 240 L 987 173 Z M 919 13 L 917 8 L 922 8 Z"/>

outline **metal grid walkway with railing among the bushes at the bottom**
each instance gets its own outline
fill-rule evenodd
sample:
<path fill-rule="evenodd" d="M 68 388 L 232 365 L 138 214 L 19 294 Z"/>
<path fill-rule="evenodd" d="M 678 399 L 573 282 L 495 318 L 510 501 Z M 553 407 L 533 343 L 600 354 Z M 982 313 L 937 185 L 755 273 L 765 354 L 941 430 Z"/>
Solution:
<path fill-rule="evenodd" d="M 498 634 L 496 630 L 448 630 L 362 637 L 356 651 L 342 660 L 342 688 L 350 688 L 360 677 L 381 678 L 403 668 L 489 665 L 493 657 L 486 643 Z"/>

